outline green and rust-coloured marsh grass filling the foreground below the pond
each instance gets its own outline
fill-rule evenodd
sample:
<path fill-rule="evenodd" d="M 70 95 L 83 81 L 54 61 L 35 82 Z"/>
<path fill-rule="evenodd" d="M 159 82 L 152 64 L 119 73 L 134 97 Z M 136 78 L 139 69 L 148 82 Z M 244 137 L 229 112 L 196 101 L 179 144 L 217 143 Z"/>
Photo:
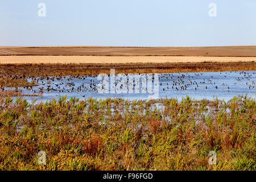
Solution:
<path fill-rule="evenodd" d="M 0 169 L 255 170 L 255 113 L 246 96 L 39 104 L 1 97 Z M 208 163 L 210 151 L 217 164 Z"/>

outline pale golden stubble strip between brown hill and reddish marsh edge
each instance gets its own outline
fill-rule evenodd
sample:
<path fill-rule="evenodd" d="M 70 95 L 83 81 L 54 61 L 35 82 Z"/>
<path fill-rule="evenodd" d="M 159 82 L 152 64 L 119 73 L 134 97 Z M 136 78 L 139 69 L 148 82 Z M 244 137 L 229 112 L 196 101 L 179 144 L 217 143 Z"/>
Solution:
<path fill-rule="evenodd" d="M 0 56 L 0 64 L 203 63 L 256 61 L 256 57 L 206 56 Z"/>

